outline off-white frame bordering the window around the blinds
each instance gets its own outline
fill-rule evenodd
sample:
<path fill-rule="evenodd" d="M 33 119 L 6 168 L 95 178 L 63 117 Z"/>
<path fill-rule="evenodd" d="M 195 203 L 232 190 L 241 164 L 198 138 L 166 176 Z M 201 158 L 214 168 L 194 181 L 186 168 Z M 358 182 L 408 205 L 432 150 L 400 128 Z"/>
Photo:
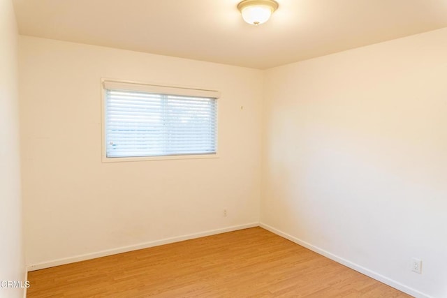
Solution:
<path fill-rule="evenodd" d="M 154 93 L 179 94 L 184 96 L 203 96 L 220 98 L 220 92 L 200 87 L 185 87 L 172 84 L 148 84 L 144 82 L 135 82 L 128 80 L 101 79 L 101 140 L 102 140 L 102 161 L 103 163 L 129 162 L 129 161 L 163 161 L 163 160 L 179 160 L 179 159 L 202 159 L 202 158 L 219 158 L 217 147 L 215 154 L 179 154 L 166 156 L 137 156 L 137 157 L 107 157 L 107 145 L 105 144 L 105 105 L 106 105 L 106 88 L 105 85 L 120 87 L 129 87 L 129 91 L 150 91 Z M 172 92 L 171 92 L 172 91 Z M 219 101 L 217 100 L 217 120 L 216 120 L 216 137 L 219 144 Z"/>

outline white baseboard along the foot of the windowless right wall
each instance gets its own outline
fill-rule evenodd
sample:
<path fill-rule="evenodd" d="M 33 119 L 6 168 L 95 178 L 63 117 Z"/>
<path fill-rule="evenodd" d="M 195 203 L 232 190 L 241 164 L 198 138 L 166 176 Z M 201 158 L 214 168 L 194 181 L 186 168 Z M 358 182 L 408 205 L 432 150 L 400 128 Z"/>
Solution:
<path fill-rule="evenodd" d="M 344 258 L 340 258 L 337 255 L 334 255 L 328 251 L 325 251 L 321 248 L 318 248 L 317 246 L 314 246 L 312 244 L 307 243 L 306 241 L 302 241 L 301 239 L 298 239 L 296 237 L 293 237 L 289 234 L 286 234 L 285 232 L 282 232 L 280 230 L 277 230 L 270 225 L 266 225 L 264 223 L 259 223 L 259 226 L 261 228 L 264 228 L 265 230 L 268 230 L 274 234 L 277 234 L 278 236 L 281 236 L 283 238 L 286 238 L 290 241 L 295 242 L 296 244 L 299 244 L 300 246 L 304 246 L 305 248 L 310 249 L 311 251 L 314 251 L 315 253 L 318 253 L 320 255 L 325 256 L 326 258 L 329 258 L 330 260 L 334 260 L 335 262 L 338 262 L 346 267 L 349 267 L 351 269 L 354 269 L 361 274 L 365 274 L 366 276 L 369 276 L 371 278 L 374 278 L 376 281 L 380 281 L 381 283 L 385 283 L 386 285 L 389 285 L 390 287 L 393 287 L 397 290 L 400 290 L 402 292 L 405 292 L 408 295 L 411 295 L 413 297 L 417 298 L 433 298 L 430 295 L 426 295 L 423 292 L 419 292 L 418 290 L 414 290 L 413 288 L 409 288 L 406 285 L 403 285 L 402 283 L 398 283 L 397 281 L 394 281 L 393 279 L 390 279 L 386 276 L 383 276 L 375 271 L 372 271 L 370 269 L 367 269 L 365 267 L 362 267 L 360 265 L 357 265 L 356 263 L 353 263 L 349 260 L 346 260 Z"/>

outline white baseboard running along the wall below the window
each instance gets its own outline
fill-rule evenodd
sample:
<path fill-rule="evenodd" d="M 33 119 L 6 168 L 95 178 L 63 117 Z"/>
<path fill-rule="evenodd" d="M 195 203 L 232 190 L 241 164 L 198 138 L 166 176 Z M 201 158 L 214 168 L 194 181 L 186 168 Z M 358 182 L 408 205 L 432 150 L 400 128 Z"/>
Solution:
<path fill-rule="evenodd" d="M 222 228 L 222 229 L 217 229 L 217 230 L 208 230 L 205 232 L 186 234 L 186 235 L 179 236 L 179 237 L 165 238 L 165 239 L 149 241 L 149 242 L 145 242 L 145 243 L 141 243 L 141 244 L 135 244 L 135 245 L 131 245 L 131 246 L 112 248 L 112 249 L 108 249 L 105 251 L 98 251 L 96 253 L 87 253 L 85 255 L 75 255 L 70 258 L 51 260 L 48 262 L 41 262 L 38 264 L 28 265 L 27 271 L 35 271 L 35 270 L 50 268 L 50 267 L 59 266 L 59 265 L 66 265 L 66 264 L 70 264 L 70 263 L 74 263 L 74 262 L 91 260 L 94 258 L 101 258 L 101 257 L 105 257 L 108 255 L 116 255 L 117 253 L 126 253 L 128 251 L 136 251 L 138 249 L 149 248 L 149 247 L 153 247 L 153 246 L 160 246 L 163 244 L 170 244 L 170 243 L 174 243 L 174 242 L 195 239 L 195 238 L 200 238 L 200 237 L 205 237 L 205 236 L 211 236 L 214 234 L 221 234 L 221 233 L 225 233 L 225 232 L 233 232 L 236 230 L 242 230 L 242 229 L 247 229 L 247 228 L 254 228 L 254 227 L 258 227 L 258 226 L 259 226 L 259 223 L 248 223 L 246 225 L 234 225 L 234 226 L 228 227 L 228 228 Z"/>

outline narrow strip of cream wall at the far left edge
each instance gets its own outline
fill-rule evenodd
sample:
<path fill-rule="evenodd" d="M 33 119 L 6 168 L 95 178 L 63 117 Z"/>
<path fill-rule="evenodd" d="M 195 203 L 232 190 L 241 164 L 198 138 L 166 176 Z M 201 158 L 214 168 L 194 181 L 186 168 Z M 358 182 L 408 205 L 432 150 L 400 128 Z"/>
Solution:
<path fill-rule="evenodd" d="M 24 281 L 17 96 L 17 27 L 10 0 L 0 0 L 0 281 Z M 0 288 L 0 297 L 23 290 Z"/>

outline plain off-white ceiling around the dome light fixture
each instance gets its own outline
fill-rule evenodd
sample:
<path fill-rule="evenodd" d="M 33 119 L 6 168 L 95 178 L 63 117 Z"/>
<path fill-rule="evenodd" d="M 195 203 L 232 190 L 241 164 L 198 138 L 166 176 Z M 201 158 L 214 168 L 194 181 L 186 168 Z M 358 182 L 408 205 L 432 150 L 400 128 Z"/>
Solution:
<path fill-rule="evenodd" d="M 447 27 L 447 0 L 277 0 L 258 27 L 239 0 L 14 0 L 20 33 L 270 68 Z"/>

